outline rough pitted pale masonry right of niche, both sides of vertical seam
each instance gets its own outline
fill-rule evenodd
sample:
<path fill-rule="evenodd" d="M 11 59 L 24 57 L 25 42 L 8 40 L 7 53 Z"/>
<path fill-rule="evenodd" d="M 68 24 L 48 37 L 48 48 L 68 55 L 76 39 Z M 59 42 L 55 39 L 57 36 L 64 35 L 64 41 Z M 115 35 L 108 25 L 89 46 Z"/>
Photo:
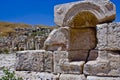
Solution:
<path fill-rule="evenodd" d="M 120 50 L 120 23 L 97 25 L 99 50 Z"/>

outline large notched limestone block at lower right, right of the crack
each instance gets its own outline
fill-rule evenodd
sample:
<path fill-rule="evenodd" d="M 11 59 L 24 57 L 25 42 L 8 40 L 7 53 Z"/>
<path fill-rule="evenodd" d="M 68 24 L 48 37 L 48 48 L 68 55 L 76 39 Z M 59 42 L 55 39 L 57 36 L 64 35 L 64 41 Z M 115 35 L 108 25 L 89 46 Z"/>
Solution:
<path fill-rule="evenodd" d="M 84 74 L 92 76 L 120 76 L 120 54 L 112 51 L 99 51 L 96 61 L 84 66 Z"/>

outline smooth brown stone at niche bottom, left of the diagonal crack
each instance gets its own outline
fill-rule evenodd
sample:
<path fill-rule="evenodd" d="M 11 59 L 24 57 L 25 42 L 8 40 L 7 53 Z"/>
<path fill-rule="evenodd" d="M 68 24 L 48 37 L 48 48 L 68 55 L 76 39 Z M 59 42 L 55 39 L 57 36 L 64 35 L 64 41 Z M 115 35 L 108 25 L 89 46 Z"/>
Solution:
<path fill-rule="evenodd" d="M 68 51 L 70 61 L 86 61 L 89 50 Z"/>

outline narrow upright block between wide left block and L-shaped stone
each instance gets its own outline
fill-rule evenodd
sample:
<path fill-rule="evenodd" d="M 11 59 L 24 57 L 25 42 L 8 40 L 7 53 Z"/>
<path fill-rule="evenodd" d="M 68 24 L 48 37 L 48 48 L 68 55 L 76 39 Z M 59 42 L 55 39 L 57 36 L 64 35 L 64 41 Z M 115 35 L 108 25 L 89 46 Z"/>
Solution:
<path fill-rule="evenodd" d="M 43 68 L 45 72 L 53 72 L 53 53 L 51 51 L 46 51 L 44 53 L 44 64 Z"/>

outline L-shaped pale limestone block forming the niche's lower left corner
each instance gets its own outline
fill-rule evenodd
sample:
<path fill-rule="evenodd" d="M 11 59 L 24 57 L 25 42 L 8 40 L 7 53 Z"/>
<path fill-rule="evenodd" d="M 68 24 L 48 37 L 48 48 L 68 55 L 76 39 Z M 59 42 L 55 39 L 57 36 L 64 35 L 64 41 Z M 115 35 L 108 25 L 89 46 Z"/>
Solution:
<path fill-rule="evenodd" d="M 54 73 L 81 74 L 84 63 L 85 61 L 70 62 L 66 51 L 54 52 Z"/>

